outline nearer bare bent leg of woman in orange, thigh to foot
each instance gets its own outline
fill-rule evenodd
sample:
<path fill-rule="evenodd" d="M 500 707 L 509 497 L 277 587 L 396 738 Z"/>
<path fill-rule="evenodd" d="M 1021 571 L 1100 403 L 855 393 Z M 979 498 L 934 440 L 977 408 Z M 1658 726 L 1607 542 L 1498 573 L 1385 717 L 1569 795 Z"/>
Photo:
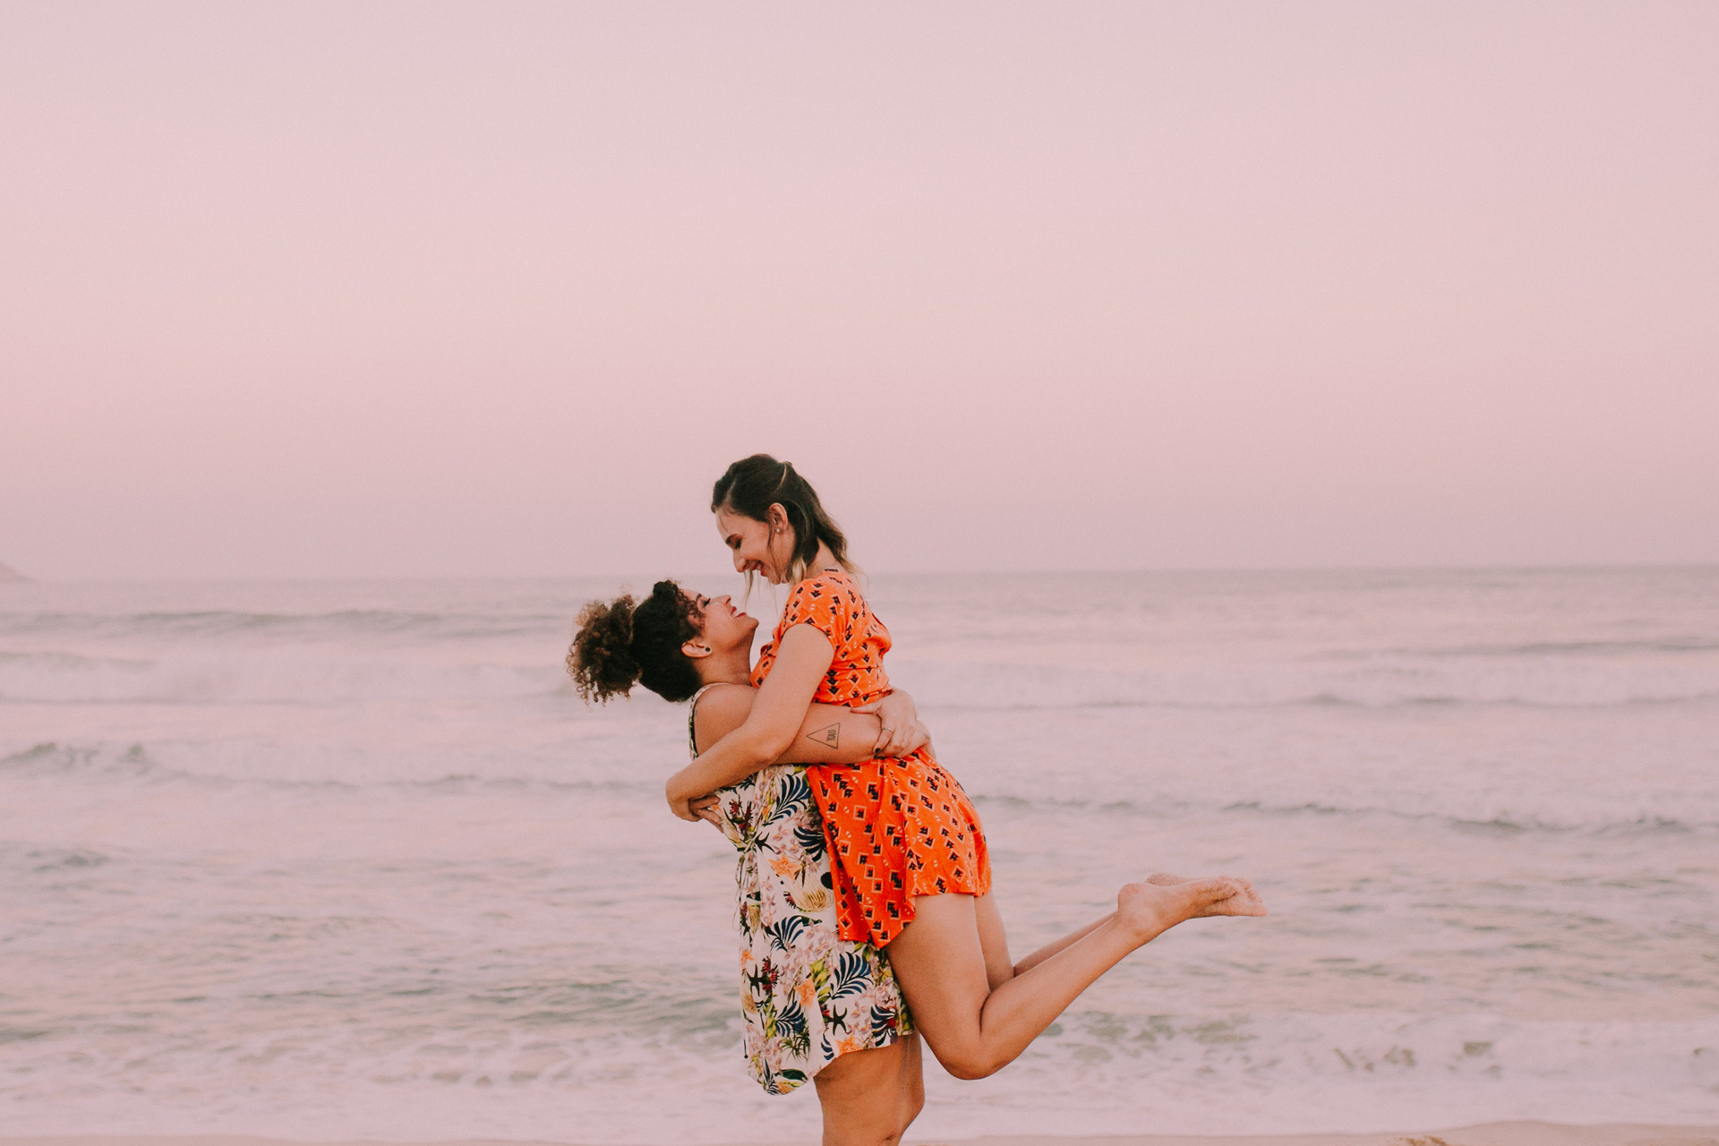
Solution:
<path fill-rule="evenodd" d="M 1116 914 L 1052 943 L 1049 955 L 1023 959 L 1019 972 L 992 990 L 1007 954 L 994 950 L 987 957 L 982 936 L 988 935 L 995 947 L 1002 924 L 994 905 L 978 905 L 983 899 L 915 897 L 913 923 L 889 945 L 915 1024 L 957 1079 L 982 1079 L 1006 1067 L 1100 974 L 1178 923 L 1265 914 L 1245 880 L 1129 883 L 1117 895 Z M 994 923 L 982 924 L 982 914 Z"/>

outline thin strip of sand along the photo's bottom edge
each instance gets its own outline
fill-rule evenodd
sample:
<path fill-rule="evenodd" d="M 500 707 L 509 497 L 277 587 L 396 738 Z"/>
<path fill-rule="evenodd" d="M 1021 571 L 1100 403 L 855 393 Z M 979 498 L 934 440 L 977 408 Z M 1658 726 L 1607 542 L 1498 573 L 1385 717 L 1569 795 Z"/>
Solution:
<path fill-rule="evenodd" d="M 316 1146 L 598 1146 L 511 1139 L 323 1139 Z M 308 1146 L 303 1139 L 246 1134 L 64 1134 L 0 1137 L 0 1146 Z M 660 1143 L 653 1146 L 679 1146 Z M 725 1146 L 765 1146 L 734 1143 Z M 810 1146 L 774 1143 L 768 1146 Z M 1611 1122 L 1566 1125 L 1557 1122 L 1483 1122 L 1437 1131 L 1382 1134 L 1025 1134 L 985 1137 L 925 1137 L 909 1132 L 902 1146 L 1719 1146 L 1719 1124 Z"/>

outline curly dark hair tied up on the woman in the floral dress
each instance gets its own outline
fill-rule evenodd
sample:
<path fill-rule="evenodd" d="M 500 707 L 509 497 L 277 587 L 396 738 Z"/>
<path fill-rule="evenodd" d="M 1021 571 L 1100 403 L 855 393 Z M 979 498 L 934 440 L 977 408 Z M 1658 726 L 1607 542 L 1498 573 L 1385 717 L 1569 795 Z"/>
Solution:
<path fill-rule="evenodd" d="M 703 680 L 681 646 L 705 631 L 698 605 L 674 581 L 658 581 L 639 603 L 633 594 L 590 601 L 567 648 L 567 675 L 579 698 L 607 704 L 643 684 L 665 701 L 684 701 Z"/>

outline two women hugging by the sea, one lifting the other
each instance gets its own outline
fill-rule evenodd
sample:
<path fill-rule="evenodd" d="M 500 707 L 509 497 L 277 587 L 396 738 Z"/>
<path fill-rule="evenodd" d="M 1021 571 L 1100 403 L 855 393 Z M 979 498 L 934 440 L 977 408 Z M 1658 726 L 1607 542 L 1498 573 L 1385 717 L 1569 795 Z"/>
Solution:
<path fill-rule="evenodd" d="M 658 581 L 586 605 L 567 670 L 586 701 L 634 684 L 689 701 L 669 808 L 739 850 L 744 1052 L 772 1094 L 813 1081 L 825 1146 L 899 1141 L 923 1105 L 921 1036 L 956 1077 L 985 1077 L 1169 928 L 1265 914 L 1246 880 L 1159 873 L 1012 960 L 978 811 L 890 689 L 889 629 L 811 485 L 756 454 L 710 509 L 748 584 L 789 589 L 756 663 L 756 619 Z"/>

